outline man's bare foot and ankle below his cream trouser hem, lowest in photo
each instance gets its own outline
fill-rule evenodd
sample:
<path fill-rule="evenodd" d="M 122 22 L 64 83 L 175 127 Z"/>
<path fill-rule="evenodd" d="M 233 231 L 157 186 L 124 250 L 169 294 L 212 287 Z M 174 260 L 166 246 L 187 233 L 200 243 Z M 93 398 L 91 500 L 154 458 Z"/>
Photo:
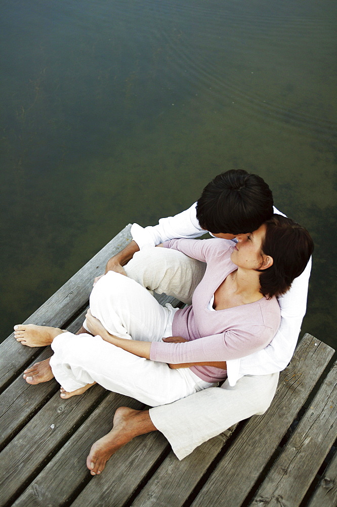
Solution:
<path fill-rule="evenodd" d="M 113 417 L 113 428 L 90 449 L 87 466 L 91 475 L 100 474 L 112 454 L 138 435 L 155 431 L 149 412 L 119 407 Z"/>

